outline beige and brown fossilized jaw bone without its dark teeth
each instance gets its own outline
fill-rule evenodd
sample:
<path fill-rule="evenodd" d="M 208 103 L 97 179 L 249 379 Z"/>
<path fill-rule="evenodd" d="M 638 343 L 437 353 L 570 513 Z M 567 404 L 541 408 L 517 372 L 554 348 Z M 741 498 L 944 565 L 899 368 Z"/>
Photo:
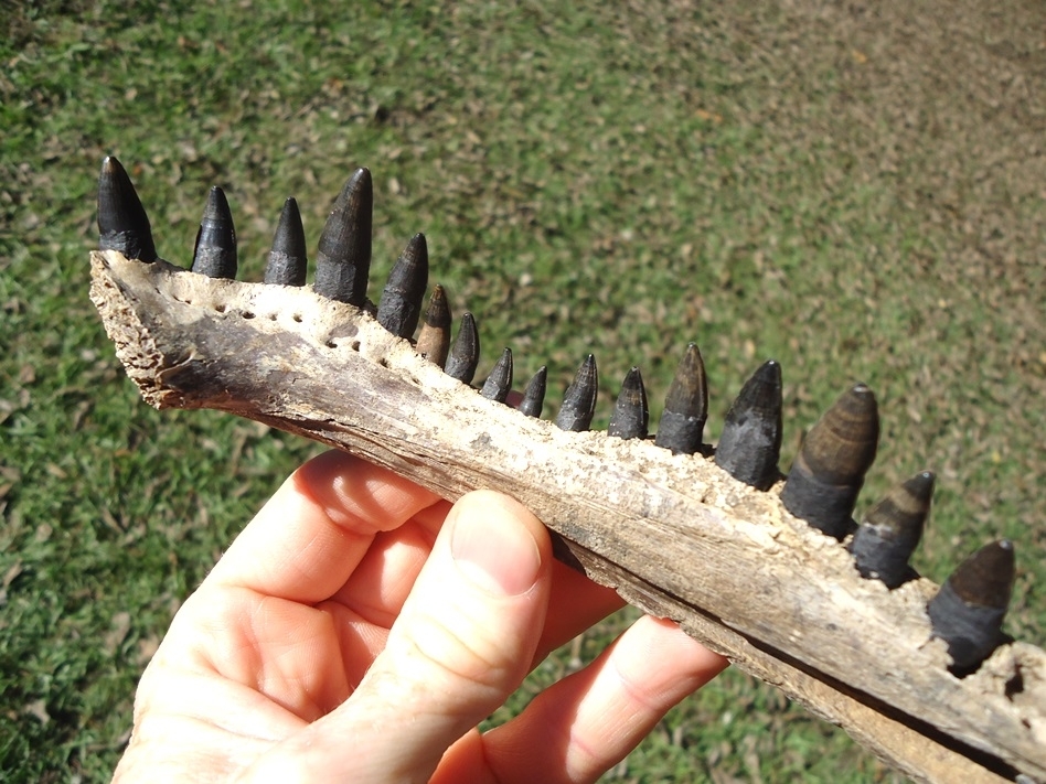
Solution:
<path fill-rule="evenodd" d="M 862 579 L 840 543 L 784 511 L 777 488 L 756 491 L 649 440 L 525 417 L 364 310 L 308 288 L 211 279 L 110 250 L 93 256 L 92 297 L 152 405 L 248 416 L 450 498 L 509 492 L 563 536 L 566 560 L 679 620 L 909 775 L 1046 777 L 1043 652 L 1004 647 L 957 679 L 946 646 L 929 642 L 935 587 Z M 1011 699 L 1017 667 L 1025 688 Z"/>

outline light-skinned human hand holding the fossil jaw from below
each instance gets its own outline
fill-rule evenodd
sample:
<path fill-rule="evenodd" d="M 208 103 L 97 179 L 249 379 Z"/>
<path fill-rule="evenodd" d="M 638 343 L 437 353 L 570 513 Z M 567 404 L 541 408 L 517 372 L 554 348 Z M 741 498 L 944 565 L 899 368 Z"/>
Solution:
<path fill-rule="evenodd" d="M 451 506 L 338 452 L 299 469 L 179 611 L 116 771 L 130 781 L 590 782 L 726 662 L 653 617 L 480 734 L 620 606 L 493 492 Z"/>

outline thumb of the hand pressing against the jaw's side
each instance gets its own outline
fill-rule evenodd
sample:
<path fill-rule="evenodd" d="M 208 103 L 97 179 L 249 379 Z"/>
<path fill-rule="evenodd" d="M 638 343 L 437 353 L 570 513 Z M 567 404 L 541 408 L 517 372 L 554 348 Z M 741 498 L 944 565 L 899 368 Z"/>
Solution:
<path fill-rule="evenodd" d="M 526 676 L 551 563 L 548 534 L 522 505 L 489 491 L 463 496 L 360 687 L 307 730 L 305 748 L 295 744 L 296 773 L 427 782 L 444 752 Z"/>

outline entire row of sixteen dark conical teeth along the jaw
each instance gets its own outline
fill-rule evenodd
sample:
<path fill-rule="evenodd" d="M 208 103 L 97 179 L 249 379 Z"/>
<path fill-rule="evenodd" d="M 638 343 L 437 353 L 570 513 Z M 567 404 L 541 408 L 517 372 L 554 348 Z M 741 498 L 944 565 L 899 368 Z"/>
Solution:
<path fill-rule="evenodd" d="M 428 284 L 425 236 L 410 238 L 399 256 L 375 308 L 366 298 L 371 265 L 373 189 L 371 173 L 356 170 L 345 183 L 320 235 L 316 259 L 316 293 L 367 310 L 386 330 L 412 340 L 420 322 L 415 350 L 463 384 L 471 384 L 479 363 L 476 321 L 466 313 L 451 344 L 451 316 L 446 293 L 433 288 L 424 319 Z M 115 158 L 102 164 L 98 184 L 100 247 L 151 262 L 158 257 L 149 218 L 126 171 Z M 196 235 L 192 271 L 212 278 L 236 276 L 236 232 L 221 189 L 211 190 Z M 288 198 L 268 255 L 265 282 L 306 283 L 306 238 L 298 204 Z M 519 410 L 540 417 L 546 386 L 542 367 L 527 383 Z M 587 430 L 596 406 L 598 375 L 593 355 L 581 363 L 568 387 L 555 423 L 564 430 Z M 480 389 L 499 402 L 512 389 L 512 352 L 498 359 Z M 769 490 L 781 477 L 781 367 L 765 363 L 744 385 L 726 415 L 718 445 L 702 443 L 707 418 L 707 384 L 697 346 L 691 343 L 665 397 L 654 443 L 684 454 L 712 454 L 735 479 Z M 609 434 L 648 437 L 647 393 L 638 367 L 632 367 L 615 402 Z M 796 517 L 840 541 L 846 540 L 861 574 L 894 589 L 918 574 L 909 558 L 919 543 L 929 513 L 935 476 L 924 471 L 895 487 L 873 506 L 862 525 L 853 519 L 864 475 L 875 459 L 879 423 L 875 396 L 856 384 L 811 428 L 788 473 L 781 502 Z M 951 670 L 974 672 L 1000 644 L 1007 642 L 1002 622 L 1014 581 L 1013 545 L 1001 539 L 974 552 L 948 578 L 927 611 L 933 634 L 948 644 Z"/>

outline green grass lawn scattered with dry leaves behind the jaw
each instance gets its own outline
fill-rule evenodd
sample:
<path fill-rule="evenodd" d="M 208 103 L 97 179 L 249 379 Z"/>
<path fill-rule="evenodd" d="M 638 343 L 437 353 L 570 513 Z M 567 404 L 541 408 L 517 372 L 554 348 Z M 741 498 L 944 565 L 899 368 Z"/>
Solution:
<path fill-rule="evenodd" d="M 137 400 L 87 300 L 107 153 L 172 261 L 188 264 L 207 189 L 223 186 L 247 279 L 286 196 L 314 247 L 344 179 L 370 167 L 374 280 L 425 232 L 434 279 L 478 318 L 480 373 L 510 345 L 521 378 L 548 364 L 555 404 L 591 351 L 604 425 L 632 364 L 655 418 L 696 340 L 715 438 L 772 356 L 787 466 L 803 428 L 867 382 L 884 428 L 861 508 L 936 470 L 917 566 L 941 580 L 1012 537 L 1007 629 L 1042 644 L 1043 106 L 1013 83 L 1034 78 L 1035 26 L 937 8 L 910 12 L 916 39 L 889 6 L 866 23 L 804 3 L 0 10 L 0 777 L 108 776 L 179 602 L 316 451 Z M 578 661 L 623 622 L 586 635 Z M 733 673 L 608 777 L 890 775 Z"/>

